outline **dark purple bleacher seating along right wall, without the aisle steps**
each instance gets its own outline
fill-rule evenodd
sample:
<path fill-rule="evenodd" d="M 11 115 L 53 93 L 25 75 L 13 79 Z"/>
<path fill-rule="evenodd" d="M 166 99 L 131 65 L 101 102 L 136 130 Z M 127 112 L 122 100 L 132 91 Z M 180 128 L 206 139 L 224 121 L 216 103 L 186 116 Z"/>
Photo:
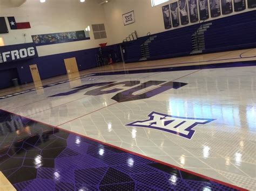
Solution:
<path fill-rule="evenodd" d="M 231 51 L 256 46 L 256 10 L 204 22 L 212 23 L 204 33 L 203 53 Z M 153 34 L 157 36 L 149 44 L 150 57 L 147 60 L 165 59 L 174 56 L 190 55 L 192 34 L 201 24 Z M 136 62 L 141 58 L 140 45 L 149 37 L 123 43 L 125 62 Z"/>

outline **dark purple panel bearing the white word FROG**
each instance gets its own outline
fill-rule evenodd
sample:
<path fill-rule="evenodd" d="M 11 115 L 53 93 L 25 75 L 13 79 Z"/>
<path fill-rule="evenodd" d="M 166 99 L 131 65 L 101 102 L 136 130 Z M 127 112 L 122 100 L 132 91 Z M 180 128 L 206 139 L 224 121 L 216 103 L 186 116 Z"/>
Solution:
<path fill-rule="evenodd" d="M 0 46 L 0 63 L 38 57 L 34 43 Z"/>

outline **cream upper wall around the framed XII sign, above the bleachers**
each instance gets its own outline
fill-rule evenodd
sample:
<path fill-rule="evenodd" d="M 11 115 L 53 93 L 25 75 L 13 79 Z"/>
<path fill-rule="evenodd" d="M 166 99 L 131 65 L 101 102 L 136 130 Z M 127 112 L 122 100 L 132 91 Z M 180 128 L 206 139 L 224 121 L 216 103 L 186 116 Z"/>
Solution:
<path fill-rule="evenodd" d="M 147 32 L 151 34 L 165 32 L 164 20 L 162 14 L 162 6 L 168 5 L 178 0 L 170 0 L 169 2 L 152 7 L 151 0 L 111 0 L 109 3 L 104 4 L 105 17 L 107 25 L 109 26 L 109 33 L 111 33 L 110 44 L 121 43 L 125 37 L 129 36 L 134 30 L 137 31 L 139 37 L 146 36 Z M 232 0 L 233 1 L 233 0 Z M 233 3 L 234 5 L 234 3 Z M 135 23 L 124 26 L 122 15 L 126 12 L 134 10 Z M 234 9 L 233 9 L 234 10 Z M 207 22 L 213 19 L 219 19 L 223 17 L 240 14 L 254 9 L 246 9 L 239 12 L 232 12 L 228 15 L 220 15 L 219 17 L 206 20 Z M 197 24 L 199 22 L 193 23 Z M 180 27 L 186 27 L 192 25 L 188 23 L 186 25 L 179 25 L 178 27 L 172 27 L 169 30 L 175 30 Z"/>

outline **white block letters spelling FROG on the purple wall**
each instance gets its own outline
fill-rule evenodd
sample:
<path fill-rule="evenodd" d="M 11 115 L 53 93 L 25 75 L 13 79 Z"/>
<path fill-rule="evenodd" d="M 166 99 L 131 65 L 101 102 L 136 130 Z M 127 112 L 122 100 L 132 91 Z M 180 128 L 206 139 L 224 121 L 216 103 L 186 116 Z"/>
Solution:
<path fill-rule="evenodd" d="M 35 56 L 36 51 L 34 47 L 16 49 L 13 51 L 0 52 L 0 63 L 24 59 L 30 56 Z"/>

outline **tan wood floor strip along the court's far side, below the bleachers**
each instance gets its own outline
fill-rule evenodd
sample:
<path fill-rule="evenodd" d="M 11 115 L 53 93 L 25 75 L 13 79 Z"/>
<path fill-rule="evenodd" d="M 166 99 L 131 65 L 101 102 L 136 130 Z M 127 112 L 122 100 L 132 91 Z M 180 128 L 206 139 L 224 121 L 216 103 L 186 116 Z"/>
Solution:
<path fill-rule="evenodd" d="M 27 89 L 45 86 L 47 84 L 59 82 L 62 80 L 68 80 L 80 75 L 99 73 L 99 72 L 111 72 L 119 70 L 137 70 L 146 68 L 163 68 L 163 67 L 177 67 L 177 66 L 193 66 L 193 65 L 207 65 L 214 63 L 227 63 L 227 62 L 237 62 L 237 61 L 250 61 L 256 60 L 256 48 L 241 49 L 237 51 L 228 52 L 218 52 L 211 54 L 200 54 L 183 56 L 178 58 L 163 59 L 163 60 L 152 60 L 143 62 L 133 62 L 133 63 L 113 63 L 111 65 L 106 65 L 97 68 L 91 68 L 87 70 L 82 70 L 79 74 L 72 75 L 60 75 L 56 77 L 51 77 L 50 79 L 45 79 L 40 82 L 23 84 L 19 87 L 10 87 L 0 90 L 0 96 L 6 94 L 16 93 L 17 91 L 24 91 Z"/>

